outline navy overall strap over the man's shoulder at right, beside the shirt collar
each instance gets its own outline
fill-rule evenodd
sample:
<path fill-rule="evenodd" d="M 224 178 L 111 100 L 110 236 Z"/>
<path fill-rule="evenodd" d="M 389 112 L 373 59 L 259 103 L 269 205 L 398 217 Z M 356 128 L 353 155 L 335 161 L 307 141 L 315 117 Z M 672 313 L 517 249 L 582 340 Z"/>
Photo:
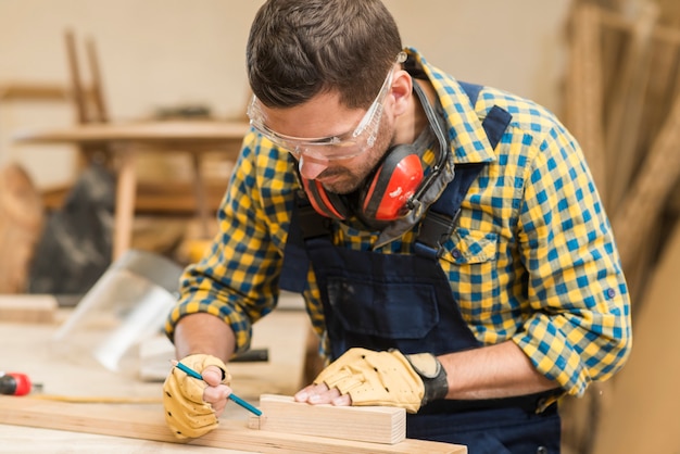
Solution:
<path fill-rule="evenodd" d="M 459 83 L 473 106 L 477 102 L 482 87 L 476 84 Z M 505 129 L 513 116 L 503 109 L 491 108 L 481 126 L 492 149 L 501 141 Z M 420 231 L 415 241 L 415 253 L 427 257 L 439 257 L 443 253 L 442 244 L 446 241 L 461 213 L 461 203 L 467 194 L 473 181 L 477 178 L 486 163 L 459 164 L 455 167 L 455 177 L 446 186 L 444 192 L 429 207 L 420 225 Z"/>

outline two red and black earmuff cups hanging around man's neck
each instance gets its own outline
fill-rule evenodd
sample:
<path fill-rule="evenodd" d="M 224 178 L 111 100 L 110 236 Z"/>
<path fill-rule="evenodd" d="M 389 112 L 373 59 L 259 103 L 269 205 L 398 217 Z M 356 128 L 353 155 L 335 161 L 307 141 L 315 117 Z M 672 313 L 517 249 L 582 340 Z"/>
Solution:
<path fill-rule="evenodd" d="M 423 175 L 420 157 L 414 148 L 408 144 L 394 147 L 361 190 L 355 209 L 357 214 L 368 220 L 389 222 L 399 218 L 406 202 L 423 182 Z M 327 192 L 320 182 L 302 178 L 302 186 L 310 203 L 319 214 L 345 219 L 353 213 L 341 196 Z"/>

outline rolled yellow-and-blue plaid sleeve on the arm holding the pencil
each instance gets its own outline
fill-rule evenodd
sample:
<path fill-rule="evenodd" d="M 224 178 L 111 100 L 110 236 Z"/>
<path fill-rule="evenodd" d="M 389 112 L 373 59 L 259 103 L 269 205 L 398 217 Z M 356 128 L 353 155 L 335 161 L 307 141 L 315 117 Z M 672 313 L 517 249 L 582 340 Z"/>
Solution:
<path fill-rule="evenodd" d="M 276 305 L 285 238 L 275 234 L 289 222 L 290 173 L 288 161 L 261 142 L 254 133 L 244 138 L 217 213 L 219 231 L 180 278 L 179 300 L 165 324 L 171 340 L 184 316 L 209 313 L 231 327 L 240 352 L 250 346 L 252 324 Z"/>

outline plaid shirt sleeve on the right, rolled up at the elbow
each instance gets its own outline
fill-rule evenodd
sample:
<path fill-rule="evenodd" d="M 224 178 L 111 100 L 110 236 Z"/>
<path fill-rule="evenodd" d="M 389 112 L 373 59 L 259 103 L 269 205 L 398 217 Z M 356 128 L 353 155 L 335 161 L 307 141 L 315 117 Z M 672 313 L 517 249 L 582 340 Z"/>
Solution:
<path fill-rule="evenodd" d="M 581 395 L 622 367 L 630 301 L 614 236 L 576 140 L 554 127 L 528 167 L 518 247 L 533 310 L 513 340 L 539 371 Z"/>

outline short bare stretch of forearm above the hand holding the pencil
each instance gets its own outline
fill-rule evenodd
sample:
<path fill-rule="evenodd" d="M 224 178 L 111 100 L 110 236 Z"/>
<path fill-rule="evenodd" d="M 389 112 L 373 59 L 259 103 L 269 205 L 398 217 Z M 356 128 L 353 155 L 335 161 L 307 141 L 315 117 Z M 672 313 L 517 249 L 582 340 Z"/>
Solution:
<path fill-rule="evenodd" d="M 236 339 L 231 327 L 214 315 L 187 315 L 175 327 L 175 351 L 178 358 L 204 353 L 226 363 L 235 349 Z"/>

